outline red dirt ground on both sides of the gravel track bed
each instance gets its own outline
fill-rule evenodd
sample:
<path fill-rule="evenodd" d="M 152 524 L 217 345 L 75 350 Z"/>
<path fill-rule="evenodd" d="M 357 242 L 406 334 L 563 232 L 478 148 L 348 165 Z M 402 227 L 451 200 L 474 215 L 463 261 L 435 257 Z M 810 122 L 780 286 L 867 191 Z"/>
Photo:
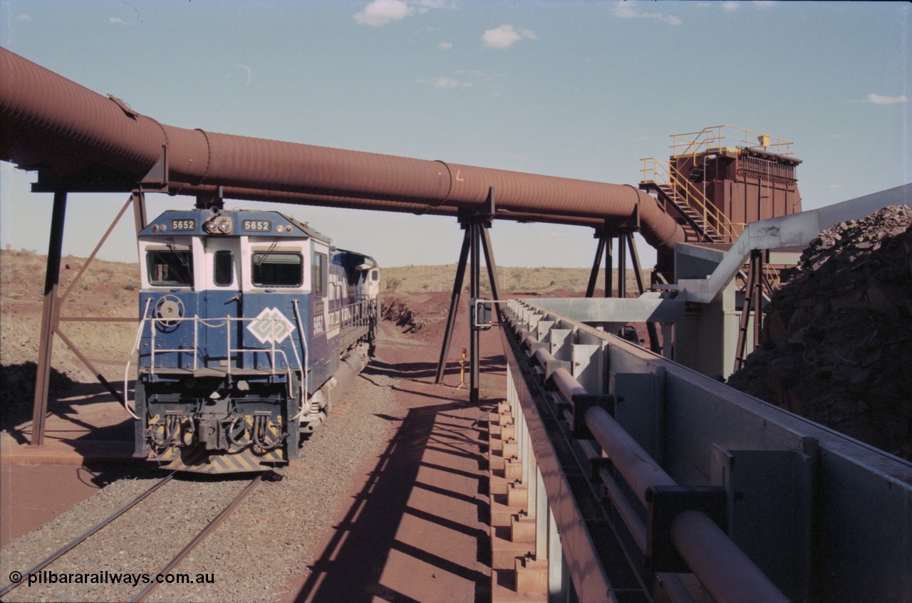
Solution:
<path fill-rule="evenodd" d="M 377 458 L 366 459 L 350 485 L 349 491 L 365 496 L 359 496 L 355 505 L 350 499 L 337 501 L 335 521 L 326 526 L 323 556 L 312 572 L 286 585 L 285 600 L 326 600 L 330 592 L 333 600 L 360 600 L 366 593 L 387 600 L 441 600 L 441 593 L 452 601 L 490 598 L 485 443 L 478 421 L 484 409 L 503 396 L 499 330 L 482 333 L 482 405 L 473 406 L 468 404 L 468 390 L 457 388 L 461 348 L 468 347 L 465 308 L 458 314 L 444 383 L 435 384 L 450 294 L 398 297 L 420 317 L 423 327 L 406 334 L 392 322 L 383 322 L 378 357 L 362 377 L 386 374 L 399 380 L 393 392 L 399 413 L 391 417 L 401 422 L 399 429 L 379 463 Z M 99 393 L 100 386 L 64 385 L 71 394 L 75 387 L 78 395 L 51 402 L 48 446 L 89 435 L 109 437 L 111 442 L 129 438 L 119 429 L 123 410 L 108 393 Z M 22 412 L 18 416 L 24 418 Z M 104 428 L 93 429 L 97 425 Z M 30 425 L 2 435 L 5 445 L 15 446 L 12 440 L 22 443 L 30 438 Z M 136 470 L 129 462 L 36 465 L 10 454 L 2 460 L 0 546 Z M 361 521 L 353 523 L 356 516 Z M 358 529 L 365 524 L 372 529 Z"/>

